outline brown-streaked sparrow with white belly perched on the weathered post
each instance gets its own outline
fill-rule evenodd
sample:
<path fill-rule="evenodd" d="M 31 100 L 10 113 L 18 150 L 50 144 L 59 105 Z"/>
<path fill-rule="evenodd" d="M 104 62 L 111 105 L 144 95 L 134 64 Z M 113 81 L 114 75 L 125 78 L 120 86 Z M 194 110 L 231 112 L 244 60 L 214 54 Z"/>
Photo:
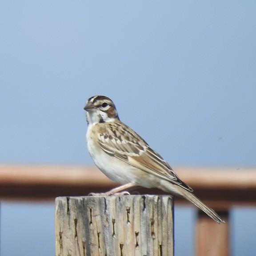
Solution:
<path fill-rule="evenodd" d="M 159 188 L 185 198 L 217 223 L 224 223 L 212 208 L 193 194 L 193 189 L 180 180 L 171 166 L 142 137 L 120 121 L 110 98 L 92 96 L 84 110 L 88 123 L 88 152 L 101 172 L 113 182 L 121 184 L 105 195 L 115 195 L 134 187 Z"/>

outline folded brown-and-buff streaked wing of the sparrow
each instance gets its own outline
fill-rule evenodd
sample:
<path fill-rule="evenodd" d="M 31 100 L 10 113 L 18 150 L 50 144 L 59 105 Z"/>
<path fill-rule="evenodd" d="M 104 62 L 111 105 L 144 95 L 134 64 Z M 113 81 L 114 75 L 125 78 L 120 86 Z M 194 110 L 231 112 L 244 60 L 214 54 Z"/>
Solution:
<path fill-rule="evenodd" d="M 100 132 L 98 142 L 109 155 L 139 168 L 145 172 L 180 185 L 192 192 L 187 184 L 173 172 L 171 166 L 131 128 L 120 122 L 120 125 L 108 123 L 108 129 Z"/>

